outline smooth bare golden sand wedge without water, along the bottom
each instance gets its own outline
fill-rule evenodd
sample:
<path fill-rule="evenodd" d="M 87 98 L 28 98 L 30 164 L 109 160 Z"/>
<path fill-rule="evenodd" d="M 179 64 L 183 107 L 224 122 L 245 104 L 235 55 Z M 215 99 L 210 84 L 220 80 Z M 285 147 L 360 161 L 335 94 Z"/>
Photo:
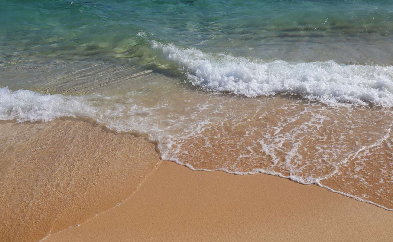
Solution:
<path fill-rule="evenodd" d="M 393 212 L 265 174 L 164 161 L 131 198 L 45 242 L 393 241 Z"/>

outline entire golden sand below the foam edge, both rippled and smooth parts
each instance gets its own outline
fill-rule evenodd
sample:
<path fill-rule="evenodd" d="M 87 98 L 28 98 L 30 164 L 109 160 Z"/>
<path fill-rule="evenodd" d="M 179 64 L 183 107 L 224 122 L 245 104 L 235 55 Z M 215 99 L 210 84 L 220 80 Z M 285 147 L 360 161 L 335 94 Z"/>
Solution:
<path fill-rule="evenodd" d="M 393 240 L 391 211 L 271 175 L 160 163 L 145 138 L 81 120 L 1 122 L 0 144 L 0 241 Z"/>

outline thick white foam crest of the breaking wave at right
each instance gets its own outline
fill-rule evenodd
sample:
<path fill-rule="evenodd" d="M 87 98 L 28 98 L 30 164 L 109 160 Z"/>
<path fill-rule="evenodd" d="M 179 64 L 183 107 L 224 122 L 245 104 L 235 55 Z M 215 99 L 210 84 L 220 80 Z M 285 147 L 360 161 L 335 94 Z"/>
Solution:
<path fill-rule="evenodd" d="M 248 97 L 297 94 L 328 105 L 354 103 L 393 107 L 393 67 L 339 65 L 334 61 L 264 63 L 244 57 L 182 49 L 150 41 L 179 65 L 193 85 Z"/>

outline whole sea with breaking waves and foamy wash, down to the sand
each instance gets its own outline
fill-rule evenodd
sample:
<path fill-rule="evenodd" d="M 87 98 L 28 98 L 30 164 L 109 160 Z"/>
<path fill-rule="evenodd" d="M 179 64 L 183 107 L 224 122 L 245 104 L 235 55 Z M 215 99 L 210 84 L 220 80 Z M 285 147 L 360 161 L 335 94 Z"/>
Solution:
<path fill-rule="evenodd" d="M 198 170 L 393 209 L 393 1 L 0 2 L 0 120 L 93 120 Z"/>

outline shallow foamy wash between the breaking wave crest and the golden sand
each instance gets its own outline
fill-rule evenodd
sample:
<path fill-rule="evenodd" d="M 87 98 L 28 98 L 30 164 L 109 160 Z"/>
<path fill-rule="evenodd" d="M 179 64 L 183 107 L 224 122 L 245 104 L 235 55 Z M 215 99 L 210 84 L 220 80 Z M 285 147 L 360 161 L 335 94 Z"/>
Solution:
<path fill-rule="evenodd" d="M 162 159 L 196 170 L 275 174 L 391 208 L 388 195 L 378 195 L 389 194 L 389 185 L 376 182 L 389 180 L 389 167 L 375 174 L 366 169 L 357 180 L 359 167 L 376 167 L 390 159 L 385 148 L 391 144 L 391 112 L 331 109 L 278 96 L 244 100 L 193 92 L 185 99 L 176 92 L 168 97 L 176 95 L 186 102 L 164 99 L 146 106 L 132 96 L 65 96 L 0 88 L 0 120 L 93 119 L 115 131 L 146 133 L 158 142 Z M 345 170 L 349 165 L 354 167 Z M 336 179 L 343 179 L 343 186 L 330 183 Z M 348 185 L 351 179 L 367 188 Z"/>

